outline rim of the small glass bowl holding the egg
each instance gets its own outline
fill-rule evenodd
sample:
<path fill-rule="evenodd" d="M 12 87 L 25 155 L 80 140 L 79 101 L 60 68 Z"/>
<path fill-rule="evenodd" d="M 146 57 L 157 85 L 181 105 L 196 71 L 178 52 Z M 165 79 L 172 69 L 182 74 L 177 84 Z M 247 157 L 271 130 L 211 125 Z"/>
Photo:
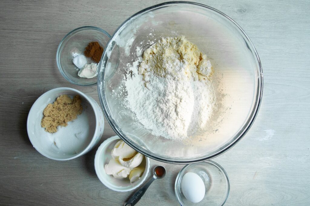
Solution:
<path fill-rule="evenodd" d="M 228 199 L 228 196 L 229 196 L 229 192 L 230 192 L 230 182 L 229 182 L 229 178 L 228 178 L 228 175 L 227 175 L 225 169 L 224 169 L 221 165 L 217 164 L 216 162 L 214 162 L 214 161 L 212 161 L 212 160 L 207 160 L 207 161 L 198 162 L 198 163 L 209 163 L 209 164 L 213 164 L 215 167 L 219 168 L 219 169 L 224 173 L 224 176 L 226 177 L 226 181 L 227 181 L 227 194 L 226 194 L 226 197 L 225 197 L 225 200 L 224 200 L 223 204 L 219 205 L 219 206 L 223 206 L 223 205 L 226 203 L 226 201 L 227 201 L 227 199 Z M 178 195 L 178 192 L 177 192 L 177 191 L 178 191 L 177 185 L 178 185 L 178 182 L 179 182 L 179 180 L 180 180 L 181 175 L 183 175 L 183 173 L 184 173 L 184 170 L 187 169 L 187 168 L 190 167 L 190 166 L 193 166 L 193 165 L 195 165 L 195 164 L 187 164 L 187 165 L 185 165 L 185 166 L 179 171 L 178 176 L 177 176 L 176 179 L 175 179 L 175 197 L 176 197 L 176 199 L 178 200 L 178 202 L 179 202 L 180 205 L 182 205 L 182 204 L 181 204 L 181 202 L 180 202 L 180 198 L 179 198 L 179 195 Z"/>

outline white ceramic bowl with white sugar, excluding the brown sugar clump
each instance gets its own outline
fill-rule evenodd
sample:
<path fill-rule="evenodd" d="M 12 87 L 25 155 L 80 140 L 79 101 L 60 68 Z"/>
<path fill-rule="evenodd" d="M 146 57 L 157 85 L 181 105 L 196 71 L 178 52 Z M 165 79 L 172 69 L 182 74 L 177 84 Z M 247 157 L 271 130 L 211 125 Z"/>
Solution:
<path fill-rule="evenodd" d="M 71 98 L 80 95 L 82 114 L 68 122 L 68 126 L 57 128 L 51 134 L 41 127 L 43 110 L 61 94 Z M 86 94 L 68 87 L 60 87 L 42 94 L 32 105 L 27 132 L 33 147 L 42 155 L 53 160 L 71 160 L 90 151 L 101 139 L 104 130 L 104 117 L 98 103 Z"/>

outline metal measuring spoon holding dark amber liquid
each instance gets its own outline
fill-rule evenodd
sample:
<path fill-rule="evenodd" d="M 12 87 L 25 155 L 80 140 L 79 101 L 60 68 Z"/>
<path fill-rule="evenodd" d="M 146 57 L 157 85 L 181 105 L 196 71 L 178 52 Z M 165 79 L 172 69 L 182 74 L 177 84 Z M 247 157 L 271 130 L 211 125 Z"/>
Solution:
<path fill-rule="evenodd" d="M 153 178 L 150 179 L 150 181 L 148 181 L 148 183 L 146 183 L 138 191 L 136 191 L 135 194 L 133 194 L 131 198 L 127 201 L 125 206 L 134 206 L 135 204 L 137 204 L 137 202 L 139 202 L 139 200 L 144 195 L 148 187 L 152 184 L 152 182 L 156 179 L 161 179 L 165 177 L 165 175 L 166 175 L 166 169 L 163 166 L 156 166 L 153 169 Z"/>

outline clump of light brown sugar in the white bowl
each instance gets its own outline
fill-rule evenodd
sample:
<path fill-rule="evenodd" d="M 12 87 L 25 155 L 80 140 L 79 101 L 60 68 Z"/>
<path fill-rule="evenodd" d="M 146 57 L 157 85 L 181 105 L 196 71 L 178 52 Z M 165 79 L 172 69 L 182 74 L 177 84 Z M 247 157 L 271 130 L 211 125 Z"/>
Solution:
<path fill-rule="evenodd" d="M 43 110 L 41 126 L 49 133 L 57 132 L 58 126 L 67 126 L 69 121 L 75 120 L 82 113 L 81 103 L 79 95 L 75 95 L 73 99 L 66 94 L 60 95 Z"/>

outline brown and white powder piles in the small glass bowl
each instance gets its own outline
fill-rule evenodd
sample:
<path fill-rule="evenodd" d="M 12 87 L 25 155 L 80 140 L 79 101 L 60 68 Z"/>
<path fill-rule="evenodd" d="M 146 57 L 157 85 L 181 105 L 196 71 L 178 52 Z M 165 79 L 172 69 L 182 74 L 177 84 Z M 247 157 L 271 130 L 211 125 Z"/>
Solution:
<path fill-rule="evenodd" d="M 98 63 L 100 62 L 103 48 L 98 42 L 90 42 L 83 54 L 73 53 L 73 64 L 79 68 L 78 76 L 83 78 L 93 78 L 97 76 Z M 91 58 L 95 63 L 87 64 L 87 58 Z"/>

